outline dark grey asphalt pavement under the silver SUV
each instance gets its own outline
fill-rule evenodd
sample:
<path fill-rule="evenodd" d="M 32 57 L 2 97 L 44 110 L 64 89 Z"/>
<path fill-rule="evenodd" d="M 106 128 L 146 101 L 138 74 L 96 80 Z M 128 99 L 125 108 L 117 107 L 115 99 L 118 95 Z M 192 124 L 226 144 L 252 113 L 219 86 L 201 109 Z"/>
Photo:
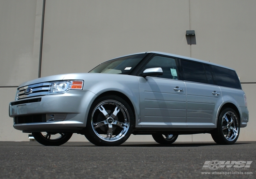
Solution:
<path fill-rule="evenodd" d="M 0 141 L 0 178 L 255 179 L 255 150 L 256 141 L 225 146 L 213 142 L 175 142 L 170 146 L 126 142 L 117 147 L 89 142 L 43 146 L 36 141 Z"/>

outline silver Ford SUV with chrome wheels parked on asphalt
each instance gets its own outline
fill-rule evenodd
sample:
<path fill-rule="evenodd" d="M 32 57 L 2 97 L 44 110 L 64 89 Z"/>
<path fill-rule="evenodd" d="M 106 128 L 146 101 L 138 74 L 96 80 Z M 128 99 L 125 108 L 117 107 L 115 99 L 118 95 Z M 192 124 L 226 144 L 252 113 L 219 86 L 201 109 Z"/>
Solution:
<path fill-rule="evenodd" d="M 73 133 L 98 146 L 120 145 L 130 134 L 166 145 L 178 135 L 210 133 L 217 144 L 233 144 L 248 122 L 234 70 L 155 51 L 112 59 L 89 73 L 27 81 L 9 115 L 15 129 L 51 146 Z"/>

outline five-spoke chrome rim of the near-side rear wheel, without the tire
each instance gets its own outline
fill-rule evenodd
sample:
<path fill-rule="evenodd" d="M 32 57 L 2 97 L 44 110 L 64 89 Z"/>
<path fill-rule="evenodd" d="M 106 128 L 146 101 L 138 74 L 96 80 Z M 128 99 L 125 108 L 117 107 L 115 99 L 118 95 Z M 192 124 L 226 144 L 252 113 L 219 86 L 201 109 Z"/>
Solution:
<path fill-rule="evenodd" d="M 224 137 L 229 140 L 233 141 L 237 138 L 239 133 L 239 124 L 237 116 L 232 112 L 228 111 L 223 115 L 222 118 L 222 131 Z"/>

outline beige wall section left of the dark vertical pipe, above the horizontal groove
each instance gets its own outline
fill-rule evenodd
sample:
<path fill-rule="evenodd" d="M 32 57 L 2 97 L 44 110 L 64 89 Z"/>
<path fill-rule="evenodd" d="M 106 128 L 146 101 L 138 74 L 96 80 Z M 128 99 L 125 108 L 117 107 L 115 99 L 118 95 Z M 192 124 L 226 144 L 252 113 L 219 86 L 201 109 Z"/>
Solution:
<path fill-rule="evenodd" d="M 0 86 L 18 86 L 38 77 L 33 59 L 37 1 L 0 1 Z"/>

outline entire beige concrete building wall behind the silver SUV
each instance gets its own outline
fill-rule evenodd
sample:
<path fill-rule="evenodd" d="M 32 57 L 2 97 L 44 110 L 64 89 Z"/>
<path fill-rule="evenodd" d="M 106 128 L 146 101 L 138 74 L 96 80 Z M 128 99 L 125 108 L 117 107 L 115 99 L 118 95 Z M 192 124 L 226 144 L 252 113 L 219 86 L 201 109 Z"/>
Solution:
<path fill-rule="evenodd" d="M 0 140 L 28 140 L 12 127 L 8 104 L 14 86 L 38 77 L 42 4 L 0 0 Z M 254 0 L 46 0 L 41 76 L 88 72 L 111 58 L 151 50 L 229 66 L 244 83 L 250 113 L 238 140 L 256 140 L 255 6 Z M 195 30 L 196 45 L 187 44 L 186 30 Z M 87 140 L 74 134 L 70 141 Z M 154 140 L 131 135 L 128 141 Z M 213 140 L 195 134 L 177 141 Z"/>

